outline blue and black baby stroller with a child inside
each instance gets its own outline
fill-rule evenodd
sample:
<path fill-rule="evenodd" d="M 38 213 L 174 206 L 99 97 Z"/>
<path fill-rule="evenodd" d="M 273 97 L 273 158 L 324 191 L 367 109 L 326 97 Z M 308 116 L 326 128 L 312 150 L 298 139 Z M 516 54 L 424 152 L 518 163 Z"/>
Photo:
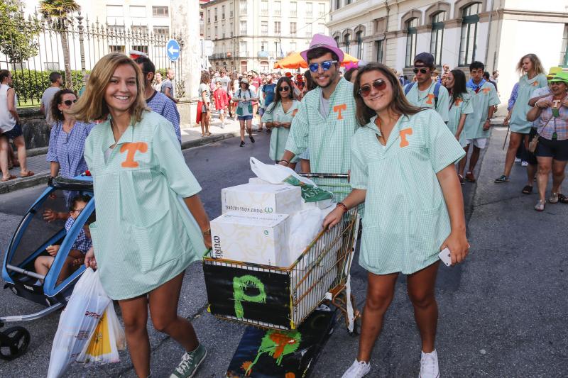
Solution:
<path fill-rule="evenodd" d="M 73 194 L 88 194 L 91 200 L 68 231 L 65 230 L 65 219 L 51 222 L 43 219 L 43 212 L 48 209 L 68 214 L 67 202 Z M 73 287 L 84 272 L 84 265 L 77 264 L 72 268 L 73 272 L 65 272 L 66 274 L 62 274 L 62 269 L 75 238 L 94 211 L 92 196 L 92 177 L 85 175 L 74 179 L 56 177 L 50 180 L 48 189 L 43 191 L 23 216 L 4 255 L 2 265 L 2 278 L 6 282 L 4 289 L 10 289 L 13 294 L 42 304 L 46 308 L 28 315 L 0 316 L 0 327 L 5 323 L 43 318 L 67 304 Z M 48 255 L 45 248 L 50 245 L 60 245 L 60 249 L 48 274 L 43 276 L 35 272 L 34 261 L 39 256 Z M 69 273 L 70 275 L 65 277 Z M 26 352 L 29 343 L 30 333 L 26 328 L 17 326 L 1 331 L 0 358 L 13 360 L 20 357 Z"/>

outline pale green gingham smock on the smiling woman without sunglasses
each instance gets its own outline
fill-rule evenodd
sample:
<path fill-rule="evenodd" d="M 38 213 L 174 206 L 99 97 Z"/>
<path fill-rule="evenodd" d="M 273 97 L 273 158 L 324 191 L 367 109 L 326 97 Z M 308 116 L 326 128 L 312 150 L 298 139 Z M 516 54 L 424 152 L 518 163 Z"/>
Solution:
<path fill-rule="evenodd" d="M 206 248 L 182 198 L 201 191 L 185 164 L 172 124 L 144 112 L 114 145 L 109 120 L 84 148 L 97 221 L 89 226 L 102 286 L 111 299 L 140 296 L 170 281 Z"/>

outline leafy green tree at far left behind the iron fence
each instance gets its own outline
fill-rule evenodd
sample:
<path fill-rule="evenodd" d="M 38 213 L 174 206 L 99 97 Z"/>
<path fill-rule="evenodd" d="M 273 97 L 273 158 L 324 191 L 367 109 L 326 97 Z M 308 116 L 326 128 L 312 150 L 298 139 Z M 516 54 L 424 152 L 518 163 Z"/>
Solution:
<path fill-rule="evenodd" d="M 24 62 L 38 55 L 40 21 L 26 21 L 18 0 L 0 1 L 0 52 L 10 62 Z"/>

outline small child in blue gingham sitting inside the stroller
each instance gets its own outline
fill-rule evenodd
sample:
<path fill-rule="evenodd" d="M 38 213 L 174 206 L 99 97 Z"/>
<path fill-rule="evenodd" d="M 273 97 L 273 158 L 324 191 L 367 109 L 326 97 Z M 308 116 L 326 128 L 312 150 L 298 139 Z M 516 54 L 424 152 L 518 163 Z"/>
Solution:
<path fill-rule="evenodd" d="M 73 197 L 73 199 L 71 200 L 70 211 L 68 213 L 69 217 L 65 222 L 65 230 L 70 230 L 71 226 L 75 222 L 75 219 L 77 219 L 81 211 L 83 211 L 90 200 L 91 196 L 88 196 L 87 194 L 79 194 Z M 50 221 L 51 213 L 53 213 L 53 211 L 50 210 L 44 212 L 44 219 L 48 222 Z M 57 214 L 58 217 L 60 217 L 61 215 L 59 213 Z M 92 213 L 89 220 L 85 222 L 79 235 L 77 235 L 77 238 L 72 245 L 69 255 L 65 259 L 65 265 L 63 265 L 61 269 L 57 284 L 60 284 L 60 282 L 69 277 L 72 274 L 74 268 L 76 269 L 77 267 L 80 267 L 80 265 L 82 265 L 85 253 L 87 253 L 89 248 L 92 248 L 91 234 L 89 232 L 89 224 L 92 222 L 94 222 L 94 213 Z M 51 265 L 55 260 L 55 255 L 58 254 L 59 249 L 60 245 L 49 245 L 48 248 L 45 248 L 49 256 L 43 255 L 35 259 L 35 272 L 43 276 L 48 274 L 49 269 L 51 268 Z M 43 284 L 41 279 L 38 280 L 38 284 Z"/>

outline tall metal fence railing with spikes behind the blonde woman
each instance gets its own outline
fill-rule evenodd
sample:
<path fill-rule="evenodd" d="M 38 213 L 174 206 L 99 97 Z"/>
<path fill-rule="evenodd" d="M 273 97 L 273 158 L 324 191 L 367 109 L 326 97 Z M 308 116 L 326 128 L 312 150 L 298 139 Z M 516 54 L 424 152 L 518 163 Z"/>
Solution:
<path fill-rule="evenodd" d="M 148 26 L 108 25 L 98 20 L 91 22 L 81 13 L 55 22 L 35 13 L 23 24 L 18 21 L 18 28 L 13 29 L 17 30 L 14 33 L 26 35 L 28 46 L 31 46 L 31 49 L 26 48 L 26 54 L 18 54 L 21 35 L 8 35 L 3 43 L 13 45 L 0 51 L 0 70 L 12 72 L 18 107 L 39 106 L 43 91 L 50 86 L 49 74 L 53 71 L 61 72 L 65 87 L 79 91 L 84 85 L 84 74 L 110 52 L 144 52 L 159 72 L 165 74 L 171 68 L 175 77 L 182 77 L 184 42 L 175 33 L 170 33 L 169 28 L 148 30 Z M 180 43 L 177 62 L 168 60 L 165 46 L 170 38 Z M 182 80 L 175 82 L 176 96 L 184 96 Z"/>

